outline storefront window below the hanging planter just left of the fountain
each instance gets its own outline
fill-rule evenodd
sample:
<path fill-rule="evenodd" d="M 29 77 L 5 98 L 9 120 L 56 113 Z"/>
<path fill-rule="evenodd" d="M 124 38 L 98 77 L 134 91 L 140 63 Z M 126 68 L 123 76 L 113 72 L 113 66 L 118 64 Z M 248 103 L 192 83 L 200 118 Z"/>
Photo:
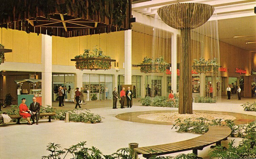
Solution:
<path fill-rule="evenodd" d="M 145 94 L 146 96 L 161 96 L 162 94 L 162 76 L 145 77 Z"/>

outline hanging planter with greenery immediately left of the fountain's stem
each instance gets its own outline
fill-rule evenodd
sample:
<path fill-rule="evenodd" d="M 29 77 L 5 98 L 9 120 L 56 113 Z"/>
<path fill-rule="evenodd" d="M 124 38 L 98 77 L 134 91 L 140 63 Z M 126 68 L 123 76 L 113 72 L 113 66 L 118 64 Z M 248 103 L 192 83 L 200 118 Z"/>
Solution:
<path fill-rule="evenodd" d="M 153 73 L 153 72 L 165 72 L 167 67 L 170 67 L 170 64 L 166 63 L 163 60 L 163 57 L 160 57 L 158 59 L 151 59 L 144 57 L 142 63 L 140 63 L 140 72 L 144 73 Z"/>

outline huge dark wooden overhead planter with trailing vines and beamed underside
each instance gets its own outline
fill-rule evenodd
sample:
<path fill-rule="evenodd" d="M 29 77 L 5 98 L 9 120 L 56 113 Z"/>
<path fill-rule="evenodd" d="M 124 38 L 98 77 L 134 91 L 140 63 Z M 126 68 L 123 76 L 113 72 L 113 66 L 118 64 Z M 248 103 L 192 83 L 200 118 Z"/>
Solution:
<path fill-rule="evenodd" d="M 0 27 L 66 38 L 127 30 L 131 29 L 131 3 L 131 0 L 112 3 L 101 0 L 1 0 Z M 120 13 L 116 13 L 117 10 Z"/>

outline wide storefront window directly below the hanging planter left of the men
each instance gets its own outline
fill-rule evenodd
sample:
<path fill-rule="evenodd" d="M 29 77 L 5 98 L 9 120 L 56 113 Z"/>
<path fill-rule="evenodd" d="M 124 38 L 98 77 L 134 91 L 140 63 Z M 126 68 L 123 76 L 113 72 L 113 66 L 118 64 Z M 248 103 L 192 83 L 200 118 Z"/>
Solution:
<path fill-rule="evenodd" d="M 109 94 L 112 90 L 112 75 L 83 74 L 84 100 L 112 99 L 112 96 Z"/>

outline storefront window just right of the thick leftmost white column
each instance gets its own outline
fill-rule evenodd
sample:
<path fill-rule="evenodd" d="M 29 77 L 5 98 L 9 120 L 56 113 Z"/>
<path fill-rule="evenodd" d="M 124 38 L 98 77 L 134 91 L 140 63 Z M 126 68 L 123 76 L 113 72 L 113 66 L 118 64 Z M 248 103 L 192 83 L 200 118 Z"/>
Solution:
<path fill-rule="evenodd" d="M 74 92 L 74 74 L 53 74 L 53 101 L 59 100 L 58 89 L 59 86 L 65 86 L 65 101 L 73 101 L 74 97 L 71 95 Z"/>

